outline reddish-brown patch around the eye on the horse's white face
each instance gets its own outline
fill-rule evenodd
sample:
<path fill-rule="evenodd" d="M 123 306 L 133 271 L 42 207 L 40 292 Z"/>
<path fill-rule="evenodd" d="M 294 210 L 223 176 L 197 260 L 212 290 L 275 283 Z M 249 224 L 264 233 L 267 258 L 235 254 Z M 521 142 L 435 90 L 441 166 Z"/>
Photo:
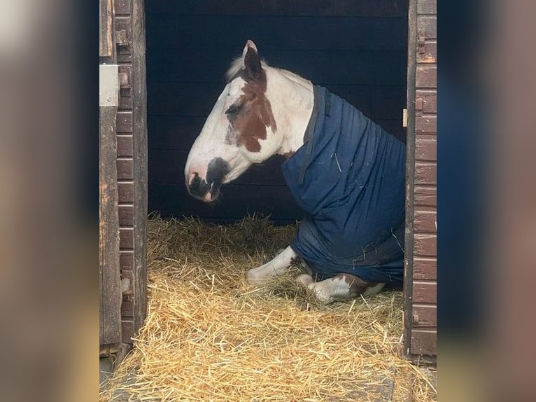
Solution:
<path fill-rule="evenodd" d="M 260 140 L 267 137 L 267 127 L 271 127 L 273 132 L 277 130 L 270 101 L 265 95 L 266 72 L 261 70 L 258 76 L 252 78 L 244 69 L 239 76 L 246 81 L 242 88 L 244 94 L 227 110 L 227 120 L 231 123 L 237 146 L 244 144 L 248 151 L 259 152 Z"/>

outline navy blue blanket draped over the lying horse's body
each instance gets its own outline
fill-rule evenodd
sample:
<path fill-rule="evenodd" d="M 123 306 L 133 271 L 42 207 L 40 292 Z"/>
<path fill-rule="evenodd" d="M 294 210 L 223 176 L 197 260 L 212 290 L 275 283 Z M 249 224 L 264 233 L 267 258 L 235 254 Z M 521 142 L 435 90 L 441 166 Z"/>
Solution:
<path fill-rule="evenodd" d="M 405 146 L 325 88 L 314 99 L 304 145 L 282 166 L 305 213 L 291 247 L 317 280 L 401 284 Z"/>

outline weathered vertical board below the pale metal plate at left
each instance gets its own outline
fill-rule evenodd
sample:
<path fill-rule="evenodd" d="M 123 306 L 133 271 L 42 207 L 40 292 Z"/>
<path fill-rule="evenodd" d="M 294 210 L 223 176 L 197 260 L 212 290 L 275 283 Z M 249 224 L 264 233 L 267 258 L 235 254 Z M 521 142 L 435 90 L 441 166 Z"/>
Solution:
<path fill-rule="evenodd" d="M 115 106 L 99 108 L 99 342 L 120 342 L 120 274 Z"/>

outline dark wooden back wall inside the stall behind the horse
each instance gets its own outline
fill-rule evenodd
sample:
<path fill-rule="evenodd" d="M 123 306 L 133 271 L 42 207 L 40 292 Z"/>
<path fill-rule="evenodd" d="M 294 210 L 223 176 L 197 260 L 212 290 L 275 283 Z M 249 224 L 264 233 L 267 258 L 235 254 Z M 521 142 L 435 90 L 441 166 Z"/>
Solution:
<path fill-rule="evenodd" d="M 269 64 L 325 85 L 405 140 L 407 0 L 153 0 L 146 18 L 150 211 L 211 220 L 247 212 L 301 217 L 282 158 L 224 186 L 216 205 L 185 189 L 188 150 L 247 39 Z"/>

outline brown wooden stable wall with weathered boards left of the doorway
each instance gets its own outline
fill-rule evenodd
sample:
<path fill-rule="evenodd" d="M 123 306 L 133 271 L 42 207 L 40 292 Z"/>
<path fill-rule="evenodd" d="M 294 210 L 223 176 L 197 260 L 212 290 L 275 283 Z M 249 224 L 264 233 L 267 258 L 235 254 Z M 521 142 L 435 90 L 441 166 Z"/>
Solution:
<path fill-rule="evenodd" d="M 113 6 L 113 8 L 112 8 Z M 107 10 L 107 11 L 106 11 Z M 106 13 L 103 13 L 106 11 Z M 113 337 L 101 336 L 101 347 L 117 350 L 131 344 L 132 336 L 146 317 L 146 216 L 147 216 L 147 129 L 145 20 L 143 0 L 101 0 L 101 21 L 108 29 L 101 40 L 101 64 L 115 69 L 118 103 L 115 109 L 101 107 L 101 172 L 108 182 L 101 190 L 115 190 L 113 198 L 101 197 L 101 306 L 118 300 L 116 307 L 103 312 L 103 323 Z M 101 32 L 103 23 L 101 22 Z M 109 54 L 103 56 L 103 52 Z M 103 130 L 103 116 L 113 127 Z M 106 141 L 103 143 L 103 141 Z M 103 146 L 106 145 L 106 147 Z M 103 150 L 113 150 L 113 154 Z M 101 174 L 101 177 L 104 177 Z M 103 200 L 108 201 L 106 204 Z M 111 233 L 103 238 L 103 229 Z M 117 238 L 118 241 L 115 241 Z M 117 312 L 115 312 L 117 308 Z M 111 346 L 114 344 L 115 346 Z"/>

